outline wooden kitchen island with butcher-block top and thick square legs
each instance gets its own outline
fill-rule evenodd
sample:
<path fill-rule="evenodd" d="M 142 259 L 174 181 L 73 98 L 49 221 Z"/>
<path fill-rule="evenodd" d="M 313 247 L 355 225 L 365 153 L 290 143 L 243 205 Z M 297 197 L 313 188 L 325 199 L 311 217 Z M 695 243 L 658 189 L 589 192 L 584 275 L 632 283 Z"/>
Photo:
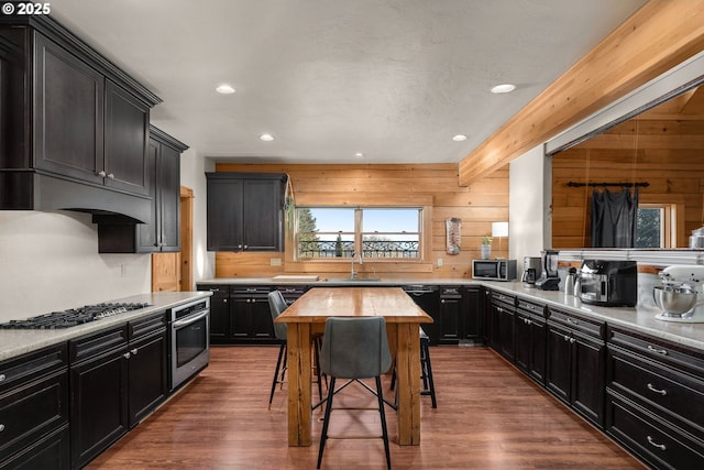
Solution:
<path fill-rule="evenodd" d="M 328 317 L 384 317 L 396 365 L 398 444 L 420 444 L 420 324 L 432 318 L 400 287 L 316 287 L 276 321 L 288 327 L 288 445 L 310 446 L 311 335 Z"/>

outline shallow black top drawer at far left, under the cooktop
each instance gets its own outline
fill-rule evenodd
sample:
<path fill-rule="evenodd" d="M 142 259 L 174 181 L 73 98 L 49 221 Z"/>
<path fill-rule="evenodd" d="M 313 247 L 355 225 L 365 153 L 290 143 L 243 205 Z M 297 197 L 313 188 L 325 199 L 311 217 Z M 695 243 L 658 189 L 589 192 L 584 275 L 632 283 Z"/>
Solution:
<path fill-rule="evenodd" d="M 67 364 L 65 342 L 7 360 L 0 363 L 0 394 Z"/>

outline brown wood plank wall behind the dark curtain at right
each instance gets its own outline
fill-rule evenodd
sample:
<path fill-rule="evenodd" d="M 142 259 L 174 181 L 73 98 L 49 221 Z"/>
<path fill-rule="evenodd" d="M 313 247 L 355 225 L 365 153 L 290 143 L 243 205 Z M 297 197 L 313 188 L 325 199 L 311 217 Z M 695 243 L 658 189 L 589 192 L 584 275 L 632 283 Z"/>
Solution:
<path fill-rule="evenodd" d="M 658 119 L 654 113 L 636 118 L 553 156 L 554 248 L 591 247 L 594 188 L 568 187 L 570 181 L 649 183 L 648 187 L 639 188 L 640 204 L 676 205 L 673 248 L 689 247 L 691 231 L 704 222 L 704 121 L 701 117 L 679 118 Z"/>

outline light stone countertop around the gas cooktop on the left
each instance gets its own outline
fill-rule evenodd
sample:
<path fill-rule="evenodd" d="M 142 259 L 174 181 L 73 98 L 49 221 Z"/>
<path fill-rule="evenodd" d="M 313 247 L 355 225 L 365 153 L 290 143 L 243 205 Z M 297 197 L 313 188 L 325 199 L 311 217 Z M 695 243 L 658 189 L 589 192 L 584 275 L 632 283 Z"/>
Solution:
<path fill-rule="evenodd" d="M 26 352 L 35 351 L 47 346 L 57 345 L 69 339 L 121 325 L 166 310 L 182 304 L 187 304 L 212 295 L 210 292 L 155 292 L 139 294 L 130 297 L 118 298 L 108 302 L 142 302 L 150 304 L 148 307 L 139 310 L 131 310 L 124 314 L 101 318 L 100 320 L 64 329 L 0 329 L 0 361 L 11 359 Z"/>

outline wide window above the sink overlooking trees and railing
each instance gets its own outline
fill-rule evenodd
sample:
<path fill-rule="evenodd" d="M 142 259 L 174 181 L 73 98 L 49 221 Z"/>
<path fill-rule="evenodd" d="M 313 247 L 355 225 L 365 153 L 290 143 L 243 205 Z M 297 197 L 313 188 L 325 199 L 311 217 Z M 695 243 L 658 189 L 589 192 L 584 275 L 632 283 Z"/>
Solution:
<path fill-rule="evenodd" d="M 298 259 L 419 259 L 420 208 L 296 208 Z"/>

